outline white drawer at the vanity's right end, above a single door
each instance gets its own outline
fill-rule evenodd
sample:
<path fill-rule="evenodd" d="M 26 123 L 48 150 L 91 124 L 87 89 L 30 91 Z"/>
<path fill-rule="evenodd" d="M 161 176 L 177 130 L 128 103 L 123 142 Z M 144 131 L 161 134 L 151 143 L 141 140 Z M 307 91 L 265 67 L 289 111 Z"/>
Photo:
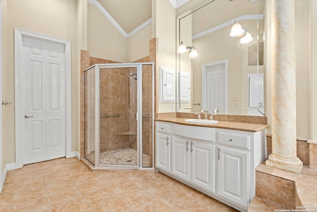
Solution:
<path fill-rule="evenodd" d="M 250 135 L 233 132 L 216 131 L 216 141 L 221 144 L 250 149 Z"/>

